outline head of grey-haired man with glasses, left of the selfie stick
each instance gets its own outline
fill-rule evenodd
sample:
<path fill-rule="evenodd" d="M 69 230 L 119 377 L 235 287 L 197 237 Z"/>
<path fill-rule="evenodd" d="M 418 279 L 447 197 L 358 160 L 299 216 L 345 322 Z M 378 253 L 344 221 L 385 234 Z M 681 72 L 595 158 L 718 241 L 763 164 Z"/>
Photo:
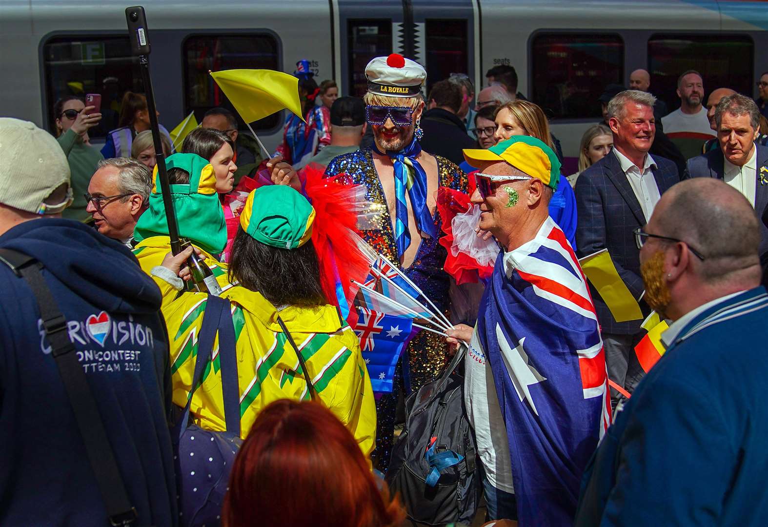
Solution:
<path fill-rule="evenodd" d="M 144 164 L 129 157 L 99 161 L 88 184 L 87 210 L 101 234 L 133 248 L 134 227 L 147 210 L 152 181 Z"/>

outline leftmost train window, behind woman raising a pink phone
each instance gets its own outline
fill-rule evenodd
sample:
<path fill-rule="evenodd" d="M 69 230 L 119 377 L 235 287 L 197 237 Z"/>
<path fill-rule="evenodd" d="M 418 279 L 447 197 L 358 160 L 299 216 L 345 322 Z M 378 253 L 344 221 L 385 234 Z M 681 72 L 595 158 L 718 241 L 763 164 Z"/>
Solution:
<path fill-rule="evenodd" d="M 125 91 L 143 91 L 137 59 L 131 44 L 118 36 L 59 36 L 43 45 L 45 100 L 48 122 L 54 127 L 53 105 L 67 95 L 101 94 L 101 123 L 91 128 L 91 138 L 102 138 L 118 128 Z"/>

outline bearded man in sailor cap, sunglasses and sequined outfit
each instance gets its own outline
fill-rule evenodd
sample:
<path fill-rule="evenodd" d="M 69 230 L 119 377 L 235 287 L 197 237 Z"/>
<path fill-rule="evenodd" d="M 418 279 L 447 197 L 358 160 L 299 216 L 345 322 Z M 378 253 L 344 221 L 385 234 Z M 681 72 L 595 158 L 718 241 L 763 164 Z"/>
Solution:
<path fill-rule="evenodd" d="M 401 55 L 374 58 L 366 66 L 368 92 L 366 120 L 374 143 L 336 157 L 326 175 L 346 174 L 350 184 L 364 184 L 366 199 L 378 205 L 377 223 L 363 238 L 379 254 L 399 263 L 440 310 L 449 307 L 449 275 L 442 270 L 445 248 L 438 243 L 440 219 L 436 213 L 438 187 L 466 192 L 467 177 L 451 161 L 422 151 L 419 121 L 424 111 L 421 96 L 426 71 Z M 376 403 L 378 429 L 376 466 L 389 465 L 395 408 L 401 389 L 415 390 L 434 380 L 445 367 L 447 345 L 439 335 L 422 331 L 400 360 L 392 383 Z M 403 378 L 409 379 L 409 384 Z"/>

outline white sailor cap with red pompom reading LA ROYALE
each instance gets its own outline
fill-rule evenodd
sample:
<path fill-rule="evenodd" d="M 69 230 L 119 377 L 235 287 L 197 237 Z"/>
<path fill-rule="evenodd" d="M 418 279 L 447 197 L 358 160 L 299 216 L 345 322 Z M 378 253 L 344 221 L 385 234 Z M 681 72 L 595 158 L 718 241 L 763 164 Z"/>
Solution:
<path fill-rule="evenodd" d="M 422 91 L 426 70 L 416 61 L 397 53 L 376 57 L 366 66 L 368 91 L 388 97 L 415 97 Z"/>

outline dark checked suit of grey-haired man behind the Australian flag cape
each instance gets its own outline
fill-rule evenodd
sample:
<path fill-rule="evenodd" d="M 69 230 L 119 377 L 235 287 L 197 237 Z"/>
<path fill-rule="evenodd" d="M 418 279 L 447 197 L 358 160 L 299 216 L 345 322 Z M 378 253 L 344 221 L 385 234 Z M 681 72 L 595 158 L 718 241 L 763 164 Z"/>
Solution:
<path fill-rule="evenodd" d="M 664 157 L 651 156 L 656 161 L 653 170 L 659 194 L 664 194 L 680 181 L 677 166 Z M 640 276 L 640 250 L 634 241 L 633 230 L 645 225 L 645 215 L 634 195 L 627 175 L 615 154 L 603 157 L 581 173 L 576 181 L 576 247 L 579 257 L 607 249 L 611 260 L 632 296 L 638 298 L 644 291 Z M 634 334 L 640 331 L 642 320 L 616 322 L 611 310 L 590 284 L 594 307 L 605 333 Z M 641 301 L 643 313 L 650 308 Z"/>

